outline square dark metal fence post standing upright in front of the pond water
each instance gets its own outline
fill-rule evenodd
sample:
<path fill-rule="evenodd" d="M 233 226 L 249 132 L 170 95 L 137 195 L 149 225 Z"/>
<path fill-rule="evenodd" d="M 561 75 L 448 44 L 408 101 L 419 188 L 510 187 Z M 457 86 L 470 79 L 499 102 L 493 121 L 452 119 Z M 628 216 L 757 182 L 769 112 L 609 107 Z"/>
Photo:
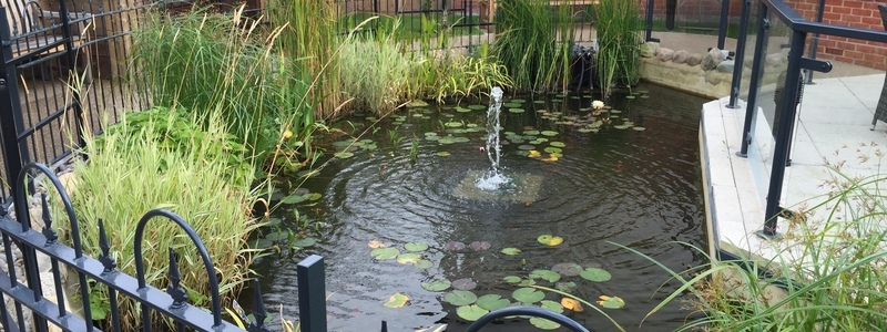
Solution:
<path fill-rule="evenodd" d="M 302 332 L 326 332 L 324 258 L 312 255 L 298 262 L 298 319 Z"/>

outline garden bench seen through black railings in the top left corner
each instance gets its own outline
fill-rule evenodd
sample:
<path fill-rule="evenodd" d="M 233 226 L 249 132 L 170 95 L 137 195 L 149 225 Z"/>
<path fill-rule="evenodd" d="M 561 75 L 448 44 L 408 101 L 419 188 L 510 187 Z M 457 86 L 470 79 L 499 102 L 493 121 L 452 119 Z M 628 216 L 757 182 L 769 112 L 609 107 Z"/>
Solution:
<path fill-rule="evenodd" d="M 65 51 L 65 40 L 62 29 L 57 27 L 61 23 L 61 13 L 58 11 L 43 10 L 41 4 L 34 0 L 2 0 L 0 6 L 7 10 L 9 31 L 12 43 L 12 59 L 21 59 L 17 66 L 34 62 L 35 59 L 53 55 Z M 71 24 L 71 44 L 79 48 L 86 42 L 84 21 L 89 18 L 88 13 L 68 13 Z M 78 70 L 84 75 L 85 82 L 92 81 L 90 70 L 89 48 L 80 48 L 81 61 Z"/>

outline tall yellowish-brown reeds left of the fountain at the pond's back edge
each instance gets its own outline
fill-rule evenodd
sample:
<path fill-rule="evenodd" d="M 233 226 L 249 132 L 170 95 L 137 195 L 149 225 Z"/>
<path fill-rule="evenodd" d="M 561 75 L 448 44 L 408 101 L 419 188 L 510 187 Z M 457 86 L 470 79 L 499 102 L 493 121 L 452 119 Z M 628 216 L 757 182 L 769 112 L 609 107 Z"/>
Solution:
<path fill-rule="evenodd" d="M 336 1 L 272 0 L 267 10 L 274 27 L 283 29 L 274 43 L 290 75 L 309 82 L 307 103 L 315 117 L 339 116 L 339 34 Z"/>

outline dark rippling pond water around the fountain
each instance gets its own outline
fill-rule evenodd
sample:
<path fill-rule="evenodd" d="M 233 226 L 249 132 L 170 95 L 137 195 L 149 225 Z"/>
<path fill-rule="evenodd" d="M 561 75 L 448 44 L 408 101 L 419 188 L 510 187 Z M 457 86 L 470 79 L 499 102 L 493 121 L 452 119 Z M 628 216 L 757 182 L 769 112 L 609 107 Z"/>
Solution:
<path fill-rule="evenodd" d="M 478 176 L 490 168 L 481 151 L 487 137 L 486 101 L 473 106 L 462 103 L 465 108 L 412 107 L 380 121 L 358 116 L 337 126 L 355 136 L 374 123 L 378 129 L 366 131 L 359 137 L 361 143 L 338 155 L 347 158 L 330 160 L 302 184 L 302 188 L 319 193 L 319 199 L 275 211 L 282 225 L 295 227 L 292 208 L 299 207 L 315 225 L 308 232 L 318 242 L 292 257 L 269 256 L 254 267 L 264 274 L 263 293 L 269 310 L 276 312 L 283 304 L 285 317 L 297 315 L 296 264 L 317 253 L 326 260 L 330 331 L 377 331 L 383 320 L 391 331 L 442 323 L 448 331 L 462 331 L 468 322 L 443 301 L 451 289 L 434 292 L 422 283 L 460 280 L 457 283 L 462 288 L 476 283 L 470 291 L 478 297 L 499 294 L 516 302 L 512 292 L 520 286 L 503 278 L 526 280 L 534 270 L 552 269 L 560 272 L 561 287 L 573 282 L 572 293 L 583 299 L 597 301 L 602 294 L 623 299 L 624 308 L 603 310 L 628 331 L 679 326 L 692 314 L 682 311 L 680 303 L 667 305 L 638 326 L 677 284 L 659 289 L 670 278 L 665 271 L 608 241 L 644 252 L 679 271 L 705 262 L 697 252 L 673 241 L 704 247 L 697 134 L 700 110 L 706 100 L 642 84 L 633 94 L 614 96 L 609 105 L 612 110 L 593 115 L 594 97 L 588 93 L 522 98 L 526 101 L 514 103 L 507 95 L 500 117 L 500 168 L 511 178 L 510 190 L 475 186 Z M 597 127 L 594 123 L 608 116 L 610 123 L 603 121 Z M 341 135 L 319 144 L 330 153 L 340 152 L 345 143 L 335 142 L 345 138 Z M 415 162 L 410 153 L 414 141 Z M 550 147 L 560 148 L 560 155 L 557 149 L 546 152 Z M 563 242 L 544 245 L 538 240 L 542 235 L 560 237 Z M 418 258 L 406 256 L 406 263 L 371 255 L 370 245 L 407 252 L 408 242 L 429 248 L 419 251 Z M 506 255 L 503 248 L 517 248 L 520 253 Z M 424 261 L 416 263 L 416 259 Z M 605 270 L 612 279 L 593 282 L 575 276 L 578 271 L 564 270 L 574 264 Z M 536 278 L 536 283 L 555 287 L 543 279 Z M 395 293 L 407 295 L 409 303 L 386 308 Z M 547 300 L 561 300 L 555 293 L 544 293 Z M 591 309 L 567 314 L 594 331 L 616 331 Z M 516 318 L 483 331 L 538 329 Z"/>

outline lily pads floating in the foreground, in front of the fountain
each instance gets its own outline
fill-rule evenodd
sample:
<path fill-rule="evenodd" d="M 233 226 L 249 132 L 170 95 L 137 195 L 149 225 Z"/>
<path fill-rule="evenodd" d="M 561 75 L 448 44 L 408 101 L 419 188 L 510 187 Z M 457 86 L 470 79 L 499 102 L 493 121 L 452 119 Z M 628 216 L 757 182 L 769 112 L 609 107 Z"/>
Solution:
<path fill-rule="evenodd" d="M 537 241 L 544 246 L 555 247 L 563 242 L 563 238 L 554 235 L 541 235 Z M 368 243 L 371 248 L 370 256 L 377 260 L 397 260 L 404 264 L 415 264 L 420 269 L 428 269 L 434 267 L 434 262 L 427 260 L 422 256 L 422 251 L 429 249 L 425 242 L 408 242 L 402 247 L 402 251 L 395 247 L 388 247 L 383 242 L 373 240 Z M 490 248 L 489 242 L 475 241 L 466 246 L 462 242 L 448 242 L 445 245 L 445 250 L 462 250 L 470 248 L 475 251 L 487 250 Z M 508 256 L 518 256 L 521 253 L 519 248 L 508 247 L 502 248 L 499 252 Z M 611 274 L 603 269 L 594 267 L 585 267 L 578 263 L 558 263 L 549 269 L 536 269 L 526 276 L 507 276 L 502 279 L 503 282 L 513 284 L 516 289 L 511 292 L 510 297 L 503 297 L 498 293 L 477 294 L 473 290 L 478 283 L 470 278 L 461 278 L 456 280 L 449 279 L 435 279 L 428 282 L 422 282 L 422 289 L 429 292 L 441 292 L 441 301 L 456 307 L 456 314 L 466 321 L 476 321 L 485 314 L 507 308 L 510 305 L 538 305 L 540 308 L 557 312 L 564 313 L 582 312 L 584 308 L 581 303 L 587 303 L 570 293 L 577 291 L 577 280 L 568 280 L 573 277 L 579 277 L 582 280 L 591 282 L 605 282 L 611 279 Z M 547 283 L 553 287 L 544 287 L 540 283 Z M 550 300 L 550 294 L 562 294 L 560 301 Z M 402 292 L 394 293 L 388 301 L 384 303 L 388 308 L 402 308 L 409 303 L 409 297 Z M 601 295 L 598 304 L 603 308 L 619 309 L 624 305 L 624 301 L 619 297 Z M 542 319 L 542 318 L 527 318 L 530 323 L 542 330 L 554 330 L 560 328 L 560 324 Z"/>

